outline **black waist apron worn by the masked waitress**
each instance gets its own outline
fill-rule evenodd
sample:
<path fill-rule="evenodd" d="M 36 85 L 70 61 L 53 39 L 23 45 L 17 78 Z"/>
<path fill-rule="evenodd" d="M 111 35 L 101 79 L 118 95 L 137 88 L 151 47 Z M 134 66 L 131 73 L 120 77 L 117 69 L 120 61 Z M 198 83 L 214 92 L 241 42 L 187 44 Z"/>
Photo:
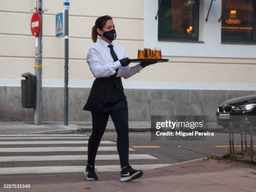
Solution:
<path fill-rule="evenodd" d="M 128 109 L 121 77 L 96 78 L 83 110 L 109 112 L 118 108 Z"/>

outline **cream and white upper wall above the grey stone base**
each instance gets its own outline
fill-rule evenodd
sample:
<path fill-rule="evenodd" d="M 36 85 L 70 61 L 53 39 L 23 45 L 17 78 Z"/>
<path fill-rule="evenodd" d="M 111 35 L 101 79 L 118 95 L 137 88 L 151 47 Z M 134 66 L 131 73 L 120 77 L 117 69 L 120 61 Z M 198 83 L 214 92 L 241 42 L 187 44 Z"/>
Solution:
<path fill-rule="evenodd" d="M 31 35 L 30 20 L 36 0 L 18 2 L 0 3 L 0 86 L 19 86 L 23 79 L 20 74 L 34 74 L 35 70 L 35 37 Z M 213 1 L 208 22 L 205 22 L 205 16 L 210 0 L 205 1 L 203 9 L 200 8 L 200 16 L 203 14 L 200 40 L 205 42 L 203 44 L 157 41 L 157 21 L 154 19 L 157 2 L 72 0 L 69 10 L 69 85 L 90 87 L 95 79 L 86 63 L 88 48 L 93 43 L 91 28 L 98 16 L 109 14 L 116 25 L 115 42 L 124 47 L 128 57 L 136 58 L 138 47 L 160 46 L 164 58 L 169 59 L 167 63 L 148 66 L 139 74 L 123 79 L 124 87 L 230 89 L 234 83 L 237 90 L 243 87 L 241 84 L 250 84 L 244 88 L 248 90 L 255 87 L 255 46 L 220 44 L 220 0 Z M 64 84 L 64 39 L 55 37 L 55 13 L 64 9 L 63 0 L 43 0 L 43 7 L 48 9 L 43 18 L 43 86 L 60 86 Z M 213 26 L 217 30 L 212 30 Z M 236 52 L 232 52 L 233 49 Z M 225 85 L 224 88 L 220 84 Z"/>

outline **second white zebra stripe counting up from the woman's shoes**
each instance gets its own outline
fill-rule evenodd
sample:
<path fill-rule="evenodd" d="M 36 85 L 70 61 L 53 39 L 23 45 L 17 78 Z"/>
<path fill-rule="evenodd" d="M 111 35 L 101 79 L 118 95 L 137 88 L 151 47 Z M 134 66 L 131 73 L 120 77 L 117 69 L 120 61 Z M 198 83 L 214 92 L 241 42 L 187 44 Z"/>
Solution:
<path fill-rule="evenodd" d="M 96 160 L 118 160 L 119 155 L 96 155 Z M 157 159 L 148 154 L 129 154 L 129 159 Z M 50 156 L 1 156 L 0 161 L 68 161 L 87 160 L 87 155 L 50 155 Z"/>

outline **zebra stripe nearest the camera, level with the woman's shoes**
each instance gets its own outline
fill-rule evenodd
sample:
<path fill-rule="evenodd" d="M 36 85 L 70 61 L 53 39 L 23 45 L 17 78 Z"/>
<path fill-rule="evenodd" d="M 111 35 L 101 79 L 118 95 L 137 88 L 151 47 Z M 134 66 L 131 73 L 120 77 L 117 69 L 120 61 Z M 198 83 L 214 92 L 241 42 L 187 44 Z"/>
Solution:
<path fill-rule="evenodd" d="M 155 169 L 159 167 L 169 166 L 172 164 L 147 164 L 132 165 L 134 169 Z M 85 166 L 29 166 L 29 167 L 5 167 L 0 168 L 1 174 L 38 174 L 38 173 L 68 173 L 84 171 Z M 100 165 L 95 166 L 97 172 L 120 172 L 120 165 Z"/>

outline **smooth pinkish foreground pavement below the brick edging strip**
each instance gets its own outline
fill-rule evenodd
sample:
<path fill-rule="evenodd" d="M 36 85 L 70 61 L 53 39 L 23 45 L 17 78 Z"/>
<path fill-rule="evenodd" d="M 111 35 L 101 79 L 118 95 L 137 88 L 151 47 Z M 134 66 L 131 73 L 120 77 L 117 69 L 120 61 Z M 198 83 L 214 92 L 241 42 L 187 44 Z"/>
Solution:
<path fill-rule="evenodd" d="M 109 181 L 62 182 L 59 184 L 31 184 L 30 189 L 4 191 L 36 191 L 45 192 L 255 192 L 256 179 L 253 169 L 238 168 L 218 172 L 190 173 L 151 177 L 120 182 L 119 179 Z M 1 189 L 0 189 L 0 192 Z"/>

